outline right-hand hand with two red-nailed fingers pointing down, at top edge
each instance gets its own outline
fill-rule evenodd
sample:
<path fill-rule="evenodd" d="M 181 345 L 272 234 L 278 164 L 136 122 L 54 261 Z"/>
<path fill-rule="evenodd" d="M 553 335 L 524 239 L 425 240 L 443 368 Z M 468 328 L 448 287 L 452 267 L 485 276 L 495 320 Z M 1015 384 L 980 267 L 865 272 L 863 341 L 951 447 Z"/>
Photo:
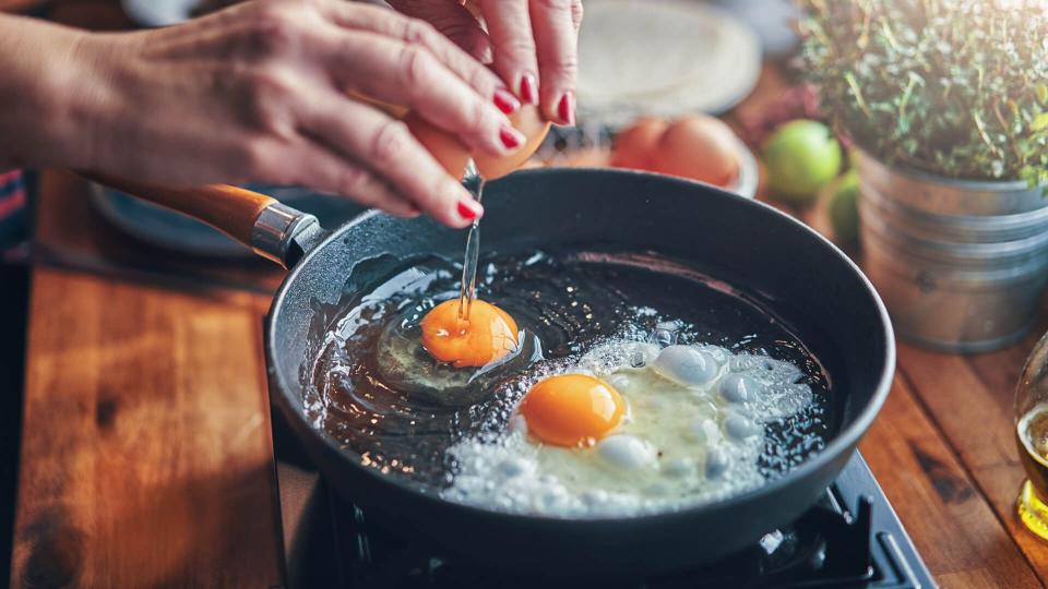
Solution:
<path fill-rule="evenodd" d="M 480 61 L 495 62 L 516 95 L 546 118 L 575 123 L 582 0 L 388 0 L 429 21 Z M 484 17 L 480 28 L 474 12 Z"/>

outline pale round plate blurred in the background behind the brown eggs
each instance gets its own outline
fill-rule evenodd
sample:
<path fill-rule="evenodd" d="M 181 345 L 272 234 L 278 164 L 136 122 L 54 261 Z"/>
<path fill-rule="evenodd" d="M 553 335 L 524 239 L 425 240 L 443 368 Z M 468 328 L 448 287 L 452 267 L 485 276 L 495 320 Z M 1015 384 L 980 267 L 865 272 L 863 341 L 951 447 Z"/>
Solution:
<path fill-rule="evenodd" d="M 725 11 L 687 0 L 590 0 L 579 108 L 617 127 L 641 115 L 722 113 L 761 74 L 761 44 Z"/>

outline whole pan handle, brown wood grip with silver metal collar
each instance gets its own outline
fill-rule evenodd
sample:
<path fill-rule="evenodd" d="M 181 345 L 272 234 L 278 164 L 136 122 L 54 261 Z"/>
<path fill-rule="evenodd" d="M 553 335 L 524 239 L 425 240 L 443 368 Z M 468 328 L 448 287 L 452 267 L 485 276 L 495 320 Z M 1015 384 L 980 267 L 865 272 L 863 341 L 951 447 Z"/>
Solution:
<path fill-rule="evenodd" d="M 204 221 L 285 268 L 326 235 L 317 217 L 242 188 L 170 188 L 90 172 L 81 176 Z"/>

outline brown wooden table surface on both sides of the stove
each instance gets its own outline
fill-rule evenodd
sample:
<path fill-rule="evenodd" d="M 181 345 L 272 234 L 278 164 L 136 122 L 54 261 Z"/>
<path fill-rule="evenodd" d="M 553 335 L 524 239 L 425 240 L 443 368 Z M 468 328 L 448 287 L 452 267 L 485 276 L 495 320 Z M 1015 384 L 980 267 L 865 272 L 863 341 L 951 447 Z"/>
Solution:
<path fill-rule="evenodd" d="M 283 585 L 261 356 L 279 273 L 160 263 L 62 172 L 43 176 L 36 239 L 11 585 Z M 970 357 L 900 346 L 861 450 L 943 587 L 1048 580 L 1048 543 L 1013 515 L 1012 393 L 1043 330 Z"/>

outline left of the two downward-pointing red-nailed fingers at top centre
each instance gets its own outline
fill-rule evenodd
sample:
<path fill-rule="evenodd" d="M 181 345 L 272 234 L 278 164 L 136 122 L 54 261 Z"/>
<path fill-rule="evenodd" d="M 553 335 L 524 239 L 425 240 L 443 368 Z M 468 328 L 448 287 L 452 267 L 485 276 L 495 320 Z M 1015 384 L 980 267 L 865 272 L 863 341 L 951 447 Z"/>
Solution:
<path fill-rule="evenodd" d="M 495 71 L 527 104 L 538 104 L 538 60 L 527 0 L 480 0 Z"/>

